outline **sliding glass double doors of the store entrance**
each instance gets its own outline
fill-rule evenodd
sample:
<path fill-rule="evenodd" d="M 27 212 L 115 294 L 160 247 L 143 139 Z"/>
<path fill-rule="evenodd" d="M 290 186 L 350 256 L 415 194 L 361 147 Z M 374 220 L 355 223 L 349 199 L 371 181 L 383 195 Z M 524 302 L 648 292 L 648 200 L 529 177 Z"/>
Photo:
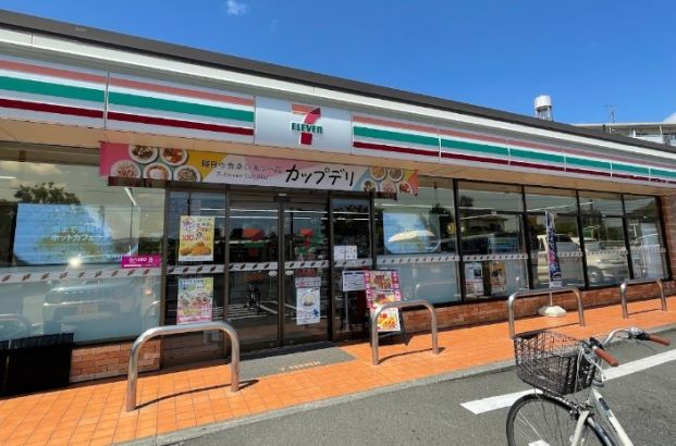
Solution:
<path fill-rule="evenodd" d="M 232 195 L 225 313 L 244 348 L 329 337 L 327 201 Z"/>

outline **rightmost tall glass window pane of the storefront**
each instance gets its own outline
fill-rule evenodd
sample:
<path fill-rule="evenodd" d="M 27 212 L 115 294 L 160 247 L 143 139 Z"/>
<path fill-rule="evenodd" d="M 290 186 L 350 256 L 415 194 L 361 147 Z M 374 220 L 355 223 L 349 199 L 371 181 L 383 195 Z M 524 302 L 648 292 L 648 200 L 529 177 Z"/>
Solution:
<path fill-rule="evenodd" d="M 624 199 L 634 276 L 666 277 L 666 246 L 660 226 L 657 200 L 637 195 L 625 195 Z"/>

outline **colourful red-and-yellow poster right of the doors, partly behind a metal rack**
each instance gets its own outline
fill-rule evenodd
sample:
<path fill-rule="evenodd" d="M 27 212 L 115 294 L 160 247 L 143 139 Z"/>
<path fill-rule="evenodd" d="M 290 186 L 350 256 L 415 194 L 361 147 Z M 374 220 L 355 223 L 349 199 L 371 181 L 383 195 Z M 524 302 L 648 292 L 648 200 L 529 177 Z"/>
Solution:
<path fill-rule="evenodd" d="M 364 271 L 366 301 L 371 314 L 385 302 L 402 300 L 397 271 Z M 388 309 L 378 319 L 379 332 L 400 332 L 400 310 Z"/>

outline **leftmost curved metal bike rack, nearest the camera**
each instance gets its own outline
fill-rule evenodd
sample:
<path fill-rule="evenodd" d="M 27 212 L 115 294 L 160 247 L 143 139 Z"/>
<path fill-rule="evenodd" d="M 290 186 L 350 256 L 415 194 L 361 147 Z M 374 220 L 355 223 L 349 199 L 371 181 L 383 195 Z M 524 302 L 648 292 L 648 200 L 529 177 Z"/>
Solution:
<path fill-rule="evenodd" d="M 136 409 L 136 381 L 138 380 L 138 354 L 140 352 L 140 348 L 153 337 L 171 335 L 171 334 L 182 334 L 182 333 L 195 333 L 195 332 L 204 332 L 209 330 L 220 330 L 221 332 L 228 334 L 230 336 L 230 342 L 232 344 L 232 361 L 230 363 L 231 371 L 231 383 L 230 391 L 237 392 L 239 389 L 239 336 L 235 329 L 226 322 L 201 322 L 189 325 L 167 325 L 167 326 L 156 326 L 155 329 L 146 330 L 142 333 L 136 340 L 134 340 L 134 345 L 132 346 L 132 351 L 130 354 L 130 370 L 127 374 L 126 381 L 126 411 L 130 412 Z M 225 343 L 225 338 L 223 338 L 223 343 Z"/>

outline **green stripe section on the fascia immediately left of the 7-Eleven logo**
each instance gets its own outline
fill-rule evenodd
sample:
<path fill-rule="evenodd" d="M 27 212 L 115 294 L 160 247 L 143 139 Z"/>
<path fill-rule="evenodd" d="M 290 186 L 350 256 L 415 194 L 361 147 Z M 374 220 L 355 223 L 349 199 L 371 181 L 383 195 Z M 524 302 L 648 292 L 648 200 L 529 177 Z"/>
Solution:
<path fill-rule="evenodd" d="M 254 122 L 254 112 L 248 110 L 225 109 L 221 107 L 189 103 L 170 99 L 149 98 L 147 96 L 128 95 L 126 92 L 108 94 L 108 101 L 118 106 L 136 107 L 139 109 L 161 110 L 174 113 L 196 114 L 223 120 Z"/>

